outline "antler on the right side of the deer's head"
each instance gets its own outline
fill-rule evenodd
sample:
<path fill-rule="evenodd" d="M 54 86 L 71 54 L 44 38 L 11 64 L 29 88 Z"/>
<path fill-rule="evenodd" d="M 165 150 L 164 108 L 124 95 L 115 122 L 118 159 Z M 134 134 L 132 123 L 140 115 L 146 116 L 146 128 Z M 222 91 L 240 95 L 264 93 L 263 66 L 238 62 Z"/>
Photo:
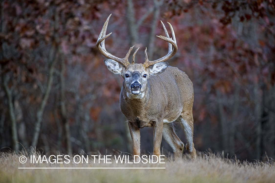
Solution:
<path fill-rule="evenodd" d="M 149 67 L 149 66 L 152 66 L 156 63 L 159 63 L 159 62 L 164 62 L 166 60 L 168 60 L 169 58 L 173 57 L 176 53 L 177 53 L 177 50 L 178 50 L 178 47 L 177 47 L 177 41 L 176 41 L 176 38 L 175 38 L 175 33 L 174 33 L 174 30 L 173 30 L 173 27 L 171 26 L 171 24 L 169 22 L 167 22 L 170 26 L 170 29 L 171 29 L 171 32 L 172 32 L 172 38 L 169 37 L 169 34 L 163 24 L 163 22 L 161 21 L 161 24 L 163 26 L 163 29 L 164 29 L 164 32 L 165 32 L 165 35 L 166 37 L 164 36 L 157 36 L 159 38 L 161 38 L 162 40 L 164 41 L 167 41 L 168 42 L 168 54 L 165 55 L 164 57 L 162 58 L 159 58 L 158 60 L 153 60 L 153 61 L 149 61 L 148 60 L 148 56 L 147 56 L 147 48 L 145 48 L 145 62 L 143 63 L 143 66 L 145 68 Z M 173 49 L 172 49 L 172 46 L 173 46 Z"/>

